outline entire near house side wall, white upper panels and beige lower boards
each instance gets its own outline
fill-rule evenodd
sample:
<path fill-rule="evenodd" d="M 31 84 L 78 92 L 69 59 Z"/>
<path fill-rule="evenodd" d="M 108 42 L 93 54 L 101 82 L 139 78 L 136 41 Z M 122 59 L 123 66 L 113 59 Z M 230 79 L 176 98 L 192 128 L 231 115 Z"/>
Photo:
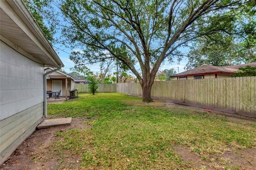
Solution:
<path fill-rule="evenodd" d="M 0 41 L 0 164 L 43 118 L 44 65 Z"/>

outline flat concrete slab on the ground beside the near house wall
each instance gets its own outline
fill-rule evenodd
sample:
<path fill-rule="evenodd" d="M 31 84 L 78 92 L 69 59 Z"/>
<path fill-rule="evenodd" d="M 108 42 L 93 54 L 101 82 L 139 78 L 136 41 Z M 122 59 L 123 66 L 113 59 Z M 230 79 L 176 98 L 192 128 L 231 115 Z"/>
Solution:
<path fill-rule="evenodd" d="M 71 123 L 71 121 L 72 121 L 71 117 L 46 119 L 46 120 L 43 120 L 37 126 L 37 129 L 50 128 L 52 126 L 58 126 L 58 125 L 69 125 Z"/>

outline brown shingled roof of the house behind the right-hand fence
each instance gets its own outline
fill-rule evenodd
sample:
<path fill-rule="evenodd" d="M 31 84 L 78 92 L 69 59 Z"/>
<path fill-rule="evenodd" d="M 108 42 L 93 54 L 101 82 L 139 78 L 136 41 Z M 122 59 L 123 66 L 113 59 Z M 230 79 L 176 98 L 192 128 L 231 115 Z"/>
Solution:
<path fill-rule="evenodd" d="M 201 65 L 196 67 L 195 69 L 191 69 L 179 74 L 174 74 L 171 77 L 181 77 L 187 75 L 204 75 L 204 74 L 212 74 L 212 73 L 223 73 L 223 74 L 231 74 L 239 69 L 239 67 L 252 66 L 256 67 L 256 63 L 249 64 L 238 64 L 238 65 L 229 65 L 229 66 L 212 66 L 212 65 Z"/>

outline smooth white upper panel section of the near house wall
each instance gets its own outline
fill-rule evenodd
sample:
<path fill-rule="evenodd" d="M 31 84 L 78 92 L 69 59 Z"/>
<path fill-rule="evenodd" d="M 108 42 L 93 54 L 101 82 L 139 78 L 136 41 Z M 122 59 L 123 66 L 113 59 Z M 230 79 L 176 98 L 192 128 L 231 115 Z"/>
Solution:
<path fill-rule="evenodd" d="M 44 66 L 0 43 L 0 120 L 3 120 L 43 102 Z"/>

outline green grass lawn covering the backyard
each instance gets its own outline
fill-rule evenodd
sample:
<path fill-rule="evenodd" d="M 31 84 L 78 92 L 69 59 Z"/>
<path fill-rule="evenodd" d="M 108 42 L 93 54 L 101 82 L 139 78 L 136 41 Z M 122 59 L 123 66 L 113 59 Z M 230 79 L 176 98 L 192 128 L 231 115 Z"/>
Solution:
<path fill-rule="evenodd" d="M 90 129 L 57 132 L 52 145 L 55 157 L 79 157 L 82 169 L 236 169 L 225 153 L 256 146 L 255 124 L 123 94 L 79 94 L 47 109 L 88 118 Z"/>

